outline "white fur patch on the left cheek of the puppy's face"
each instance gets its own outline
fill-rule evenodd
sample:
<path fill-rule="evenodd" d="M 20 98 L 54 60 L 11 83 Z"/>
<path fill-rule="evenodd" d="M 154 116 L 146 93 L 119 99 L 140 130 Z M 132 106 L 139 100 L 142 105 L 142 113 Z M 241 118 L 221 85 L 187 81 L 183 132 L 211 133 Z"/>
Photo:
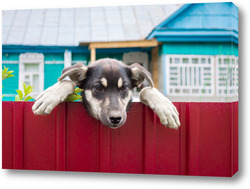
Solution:
<path fill-rule="evenodd" d="M 101 115 L 101 101 L 94 98 L 90 90 L 85 90 L 85 97 L 91 106 L 93 116 L 99 119 Z"/>

